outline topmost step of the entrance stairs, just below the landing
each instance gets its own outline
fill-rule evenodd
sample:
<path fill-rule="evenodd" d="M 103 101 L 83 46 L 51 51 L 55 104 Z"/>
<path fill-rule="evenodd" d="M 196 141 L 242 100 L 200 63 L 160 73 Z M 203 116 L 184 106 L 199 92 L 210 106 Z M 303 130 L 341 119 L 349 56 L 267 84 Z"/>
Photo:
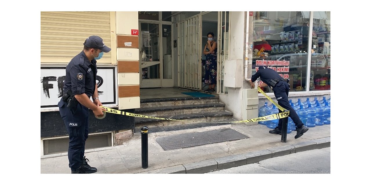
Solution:
<path fill-rule="evenodd" d="M 175 105 L 193 105 L 219 103 L 219 97 L 176 97 L 176 98 L 148 98 L 140 101 L 140 107 L 164 107 Z"/>

